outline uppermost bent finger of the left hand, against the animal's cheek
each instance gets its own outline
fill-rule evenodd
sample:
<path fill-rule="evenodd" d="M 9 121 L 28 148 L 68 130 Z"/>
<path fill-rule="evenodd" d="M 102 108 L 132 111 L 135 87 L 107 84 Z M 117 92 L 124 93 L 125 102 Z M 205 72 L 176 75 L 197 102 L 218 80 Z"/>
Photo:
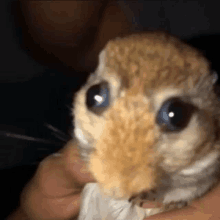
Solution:
<path fill-rule="evenodd" d="M 45 196 L 62 197 L 82 190 L 90 181 L 94 180 L 79 158 L 75 143 L 70 141 L 60 152 L 40 163 L 31 185 Z"/>

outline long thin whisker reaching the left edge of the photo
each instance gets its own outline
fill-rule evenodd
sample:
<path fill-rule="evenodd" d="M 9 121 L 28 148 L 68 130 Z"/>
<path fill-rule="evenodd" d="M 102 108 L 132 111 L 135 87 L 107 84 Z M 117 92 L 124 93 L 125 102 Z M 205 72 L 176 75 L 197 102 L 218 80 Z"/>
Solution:
<path fill-rule="evenodd" d="M 39 143 L 45 143 L 45 144 L 54 144 L 57 146 L 62 146 L 62 143 L 57 143 L 55 141 L 50 141 L 50 140 L 45 140 L 42 138 L 35 138 L 35 137 L 30 137 L 27 135 L 23 134 L 15 134 L 15 133 L 10 133 L 6 131 L 0 131 L 1 136 L 9 137 L 9 138 L 16 138 L 20 140 L 27 140 L 27 141 L 34 141 L 34 142 L 39 142 Z"/>

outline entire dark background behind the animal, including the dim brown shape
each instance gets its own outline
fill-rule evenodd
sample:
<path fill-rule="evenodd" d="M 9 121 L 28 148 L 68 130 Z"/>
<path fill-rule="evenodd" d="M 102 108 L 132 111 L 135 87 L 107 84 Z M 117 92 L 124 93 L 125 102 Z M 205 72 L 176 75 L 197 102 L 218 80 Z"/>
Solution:
<path fill-rule="evenodd" d="M 71 137 L 73 94 L 109 39 L 167 30 L 219 71 L 218 8 L 214 0 L 1 0 L 0 218 L 17 206 L 37 164 Z"/>

